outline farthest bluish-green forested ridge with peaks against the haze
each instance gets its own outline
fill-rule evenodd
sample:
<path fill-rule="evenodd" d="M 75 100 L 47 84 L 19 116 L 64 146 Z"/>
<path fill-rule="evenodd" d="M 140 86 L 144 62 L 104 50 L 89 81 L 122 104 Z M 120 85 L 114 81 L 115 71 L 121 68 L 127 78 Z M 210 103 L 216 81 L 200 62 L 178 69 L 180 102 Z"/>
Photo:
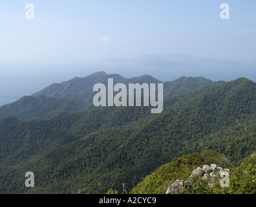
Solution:
<path fill-rule="evenodd" d="M 220 85 L 224 83 L 223 81 L 212 82 L 203 77 L 181 77 L 177 80 L 169 82 L 161 82 L 156 78 L 153 78 L 149 75 L 134 77 L 134 78 L 123 78 L 120 74 L 107 74 L 106 72 L 95 72 L 86 76 L 84 78 L 73 78 L 67 82 L 62 83 L 53 83 L 38 91 L 37 93 L 32 94 L 32 96 L 45 95 L 49 97 L 66 97 L 72 98 L 73 100 L 83 100 L 86 102 L 92 102 L 92 89 L 96 83 L 103 83 L 107 85 L 108 78 L 113 78 L 114 84 L 124 83 L 164 83 L 164 94 L 169 96 L 183 94 L 186 91 L 201 89 L 203 87 L 212 87 L 214 85 Z M 185 93 L 185 94 L 188 94 Z"/>

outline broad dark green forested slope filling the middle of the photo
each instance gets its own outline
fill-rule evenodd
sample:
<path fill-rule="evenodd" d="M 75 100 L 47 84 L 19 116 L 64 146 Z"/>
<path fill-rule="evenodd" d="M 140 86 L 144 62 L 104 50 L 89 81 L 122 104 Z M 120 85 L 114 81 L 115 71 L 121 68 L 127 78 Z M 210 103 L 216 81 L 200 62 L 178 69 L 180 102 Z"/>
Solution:
<path fill-rule="evenodd" d="M 203 149 L 240 164 L 255 150 L 255 84 L 239 78 L 188 94 L 182 89 L 166 96 L 160 114 L 89 104 L 44 120 L 6 116 L 0 120 L 0 192 L 105 193 L 113 182 L 132 188 L 162 164 Z M 34 172 L 35 188 L 25 188 L 26 171 Z"/>

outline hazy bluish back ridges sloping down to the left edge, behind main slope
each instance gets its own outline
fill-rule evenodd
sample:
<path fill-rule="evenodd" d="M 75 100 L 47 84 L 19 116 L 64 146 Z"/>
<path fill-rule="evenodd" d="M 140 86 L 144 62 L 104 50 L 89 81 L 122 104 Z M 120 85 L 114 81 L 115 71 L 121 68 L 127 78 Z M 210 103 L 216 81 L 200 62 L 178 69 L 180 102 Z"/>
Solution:
<path fill-rule="evenodd" d="M 134 78 L 123 78 L 119 74 L 95 72 L 84 78 L 73 78 L 67 82 L 53 83 L 32 96 L 24 96 L 14 103 L 0 107 L 0 118 L 14 115 L 21 120 L 49 118 L 62 112 L 76 112 L 86 109 L 92 103 L 96 83 L 107 86 L 108 78 L 114 79 L 114 84 L 124 83 L 162 83 L 149 75 Z M 164 82 L 164 97 L 181 97 L 201 90 L 205 87 L 220 85 L 224 82 L 212 82 L 202 77 L 181 77 L 172 82 Z"/>

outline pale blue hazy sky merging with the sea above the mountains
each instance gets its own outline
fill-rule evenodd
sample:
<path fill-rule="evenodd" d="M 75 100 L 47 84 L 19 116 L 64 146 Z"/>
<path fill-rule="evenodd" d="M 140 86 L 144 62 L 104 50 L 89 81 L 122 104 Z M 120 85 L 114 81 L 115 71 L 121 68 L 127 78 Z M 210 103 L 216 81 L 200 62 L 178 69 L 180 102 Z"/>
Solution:
<path fill-rule="evenodd" d="M 229 19 L 220 18 L 222 3 Z M 255 0 L 1 0 L 0 26 L 0 98 L 106 71 L 99 62 L 109 57 L 184 53 L 256 64 Z"/>

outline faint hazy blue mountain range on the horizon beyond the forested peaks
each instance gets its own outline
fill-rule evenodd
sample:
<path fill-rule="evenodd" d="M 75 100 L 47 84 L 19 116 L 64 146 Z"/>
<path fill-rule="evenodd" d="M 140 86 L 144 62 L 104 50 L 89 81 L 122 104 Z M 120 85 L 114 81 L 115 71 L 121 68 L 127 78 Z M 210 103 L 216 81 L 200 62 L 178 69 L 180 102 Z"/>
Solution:
<path fill-rule="evenodd" d="M 96 64 L 108 69 L 107 72 L 122 71 L 123 76 L 150 74 L 162 81 L 174 80 L 181 76 L 203 76 L 211 80 L 231 81 L 239 77 L 255 82 L 255 65 L 252 63 L 199 58 L 189 54 L 144 54 L 133 58 L 105 58 Z M 170 79 L 172 77 L 174 79 Z"/>

